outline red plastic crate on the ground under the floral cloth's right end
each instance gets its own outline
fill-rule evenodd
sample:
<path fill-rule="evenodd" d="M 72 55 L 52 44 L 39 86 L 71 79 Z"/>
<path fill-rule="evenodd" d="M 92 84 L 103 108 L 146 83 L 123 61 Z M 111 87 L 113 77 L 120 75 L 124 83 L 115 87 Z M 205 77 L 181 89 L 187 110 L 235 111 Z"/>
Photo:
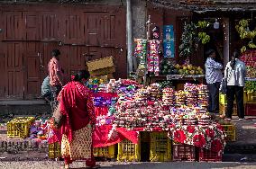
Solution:
<path fill-rule="evenodd" d="M 200 148 L 199 150 L 199 161 L 211 161 L 211 162 L 221 162 L 223 158 L 223 153 L 216 153 L 206 148 Z"/>

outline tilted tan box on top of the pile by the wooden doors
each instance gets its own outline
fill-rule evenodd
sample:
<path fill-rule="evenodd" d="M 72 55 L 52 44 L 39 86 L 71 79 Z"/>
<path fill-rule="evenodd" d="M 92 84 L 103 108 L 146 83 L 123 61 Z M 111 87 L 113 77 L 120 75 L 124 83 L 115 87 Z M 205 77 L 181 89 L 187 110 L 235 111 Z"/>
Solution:
<path fill-rule="evenodd" d="M 113 57 L 100 58 L 87 62 L 88 71 L 95 71 L 106 67 L 114 67 Z"/>

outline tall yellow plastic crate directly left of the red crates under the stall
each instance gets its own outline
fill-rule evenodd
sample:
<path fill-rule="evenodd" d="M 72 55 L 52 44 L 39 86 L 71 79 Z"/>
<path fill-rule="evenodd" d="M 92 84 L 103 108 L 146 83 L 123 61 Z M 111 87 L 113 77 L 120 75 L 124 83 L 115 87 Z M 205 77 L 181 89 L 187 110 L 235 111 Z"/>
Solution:
<path fill-rule="evenodd" d="M 171 139 L 167 132 L 151 132 L 151 162 L 171 161 Z"/>

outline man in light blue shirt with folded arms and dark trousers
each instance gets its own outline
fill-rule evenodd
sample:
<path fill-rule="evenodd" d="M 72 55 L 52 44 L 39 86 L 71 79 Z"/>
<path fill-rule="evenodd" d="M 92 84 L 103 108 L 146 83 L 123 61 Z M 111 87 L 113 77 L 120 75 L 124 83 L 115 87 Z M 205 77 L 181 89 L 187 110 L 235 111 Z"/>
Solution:
<path fill-rule="evenodd" d="M 219 113 L 219 88 L 223 75 L 221 69 L 223 65 L 215 61 L 215 50 L 206 51 L 206 83 L 208 86 L 208 111 Z"/>

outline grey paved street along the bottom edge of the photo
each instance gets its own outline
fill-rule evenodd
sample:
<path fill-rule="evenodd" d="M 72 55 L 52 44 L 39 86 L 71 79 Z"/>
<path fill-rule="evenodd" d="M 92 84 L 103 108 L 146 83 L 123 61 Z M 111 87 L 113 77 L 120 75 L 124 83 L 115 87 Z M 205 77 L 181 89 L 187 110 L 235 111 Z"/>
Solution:
<path fill-rule="evenodd" d="M 20 161 L 20 162 L 0 162 L 0 169 L 59 169 L 63 162 L 55 161 Z M 196 162 L 169 162 L 169 163 L 117 163 L 105 162 L 99 163 L 101 168 L 115 169 L 205 169 L 205 168 L 228 168 L 228 169 L 256 169 L 256 163 L 241 164 L 241 163 L 196 163 Z M 70 165 L 73 169 L 85 169 L 86 165 L 83 162 L 76 162 Z"/>

